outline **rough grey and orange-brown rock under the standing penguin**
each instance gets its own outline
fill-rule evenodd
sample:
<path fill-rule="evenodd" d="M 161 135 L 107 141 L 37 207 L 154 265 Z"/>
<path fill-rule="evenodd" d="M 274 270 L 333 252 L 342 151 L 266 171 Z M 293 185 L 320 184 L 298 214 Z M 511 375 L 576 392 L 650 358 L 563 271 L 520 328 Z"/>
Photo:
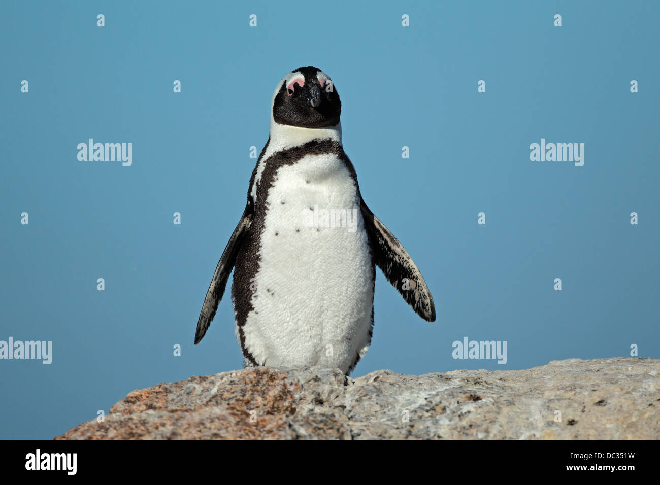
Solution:
<path fill-rule="evenodd" d="M 56 439 L 658 439 L 660 359 L 404 375 L 248 368 L 138 389 Z"/>

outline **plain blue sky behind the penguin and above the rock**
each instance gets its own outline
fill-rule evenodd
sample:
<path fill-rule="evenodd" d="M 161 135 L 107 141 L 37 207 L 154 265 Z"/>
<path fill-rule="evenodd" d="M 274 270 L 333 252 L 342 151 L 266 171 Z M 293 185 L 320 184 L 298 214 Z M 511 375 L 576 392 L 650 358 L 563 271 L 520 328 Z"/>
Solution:
<path fill-rule="evenodd" d="M 197 346 L 195 325 L 275 84 L 306 65 L 333 79 L 362 195 L 438 315 L 378 271 L 352 375 L 660 357 L 660 4 L 328 5 L 1 3 L 0 340 L 51 340 L 53 361 L 0 360 L 0 437 L 50 438 L 133 389 L 241 367 L 228 291 Z M 90 138 L 132 143 L 133 164 L 79 161 Z M 541 139 L 584 143 L 584 165 L 531 161 Z M 454 359 L 464 337 L 506 340 L 507 363 Z"/>

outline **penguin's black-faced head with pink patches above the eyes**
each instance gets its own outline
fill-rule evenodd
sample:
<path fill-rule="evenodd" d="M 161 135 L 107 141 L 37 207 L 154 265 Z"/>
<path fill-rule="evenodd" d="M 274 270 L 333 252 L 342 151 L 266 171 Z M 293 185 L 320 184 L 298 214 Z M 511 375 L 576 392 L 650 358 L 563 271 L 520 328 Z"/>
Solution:
<path fill-rule="evenodd" d="M 291 71 L 273 94 L 273 121 L 279 125 L 327 128 L 339 124 L 341 101 L 330 77 L 315 67 Z"/>

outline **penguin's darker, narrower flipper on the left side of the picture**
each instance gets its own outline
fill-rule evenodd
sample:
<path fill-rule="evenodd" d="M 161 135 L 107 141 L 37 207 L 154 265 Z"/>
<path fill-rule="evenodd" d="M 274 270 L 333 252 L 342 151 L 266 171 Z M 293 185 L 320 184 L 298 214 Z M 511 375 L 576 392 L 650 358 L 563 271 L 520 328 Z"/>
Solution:
<path fill-rule="evenodd" d="M 222 251 L 220 261 L 218 261 L 213 280 L 211 280 L 207 296 L 204 298 L 204 304 L 199 312 L 197 331 L 195 331 L 195 345 L 199 344 L 199 341 L 206 334 L 209 325 L 211 325 L 211 320 L 215 317 L 218 304 L 220 303 L 220 300 L 222 300 L 224 288 L 227 286 L 227 280 L 232 273 L 232 269 L 234 269 L 234 264 L 236 264 L 238 248 L 252 223 L 252 211 L 250 207 L 251 206 L 248 203 L 246 210 L 244 210 L 243 215 L 241 216 L 241 220 L 238 222 L 236 229 L 234 229 L 234 234 L 232 234 L 232 237 L 229 239 L 224 251 Z"/>

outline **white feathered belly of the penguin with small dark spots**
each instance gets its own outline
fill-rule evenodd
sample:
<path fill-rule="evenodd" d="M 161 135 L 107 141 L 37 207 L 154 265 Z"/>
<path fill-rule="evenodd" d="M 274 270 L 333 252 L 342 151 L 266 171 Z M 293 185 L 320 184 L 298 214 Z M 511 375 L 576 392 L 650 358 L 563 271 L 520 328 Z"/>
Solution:
<path fill-rule="evenodd" d="M 271 185 L 255 207 L 258 269 L 234 275 L 252 284 L 237 327 L 244 353 L 259 365 L 350 372 L 370 344 L 375 277 L 356 182 L 337 156 L 315 154 L 261 183 Z"/>

